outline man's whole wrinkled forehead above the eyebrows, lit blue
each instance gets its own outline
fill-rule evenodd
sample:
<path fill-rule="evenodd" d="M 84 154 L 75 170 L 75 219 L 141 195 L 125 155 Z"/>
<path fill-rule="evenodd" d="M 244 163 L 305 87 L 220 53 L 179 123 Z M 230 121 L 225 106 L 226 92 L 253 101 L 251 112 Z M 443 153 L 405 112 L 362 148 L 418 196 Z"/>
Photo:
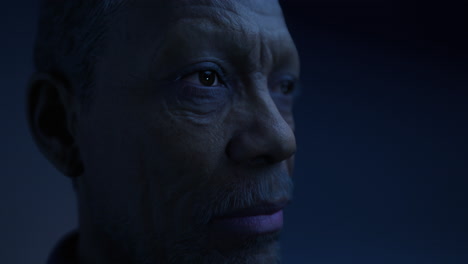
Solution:
<path fill-rule="evenodd" d="M 187 58 L 210 56 L 243 63 L 246 70 L 275 63 L 299 67 L 276 0 L 135 0 L 116 16 L 110 31 L 115 50 L 109 57 L 133 49 L 139 67 L 144 63 L 136 61 L 138 56 L 173 67 L 187 64 Z"/>

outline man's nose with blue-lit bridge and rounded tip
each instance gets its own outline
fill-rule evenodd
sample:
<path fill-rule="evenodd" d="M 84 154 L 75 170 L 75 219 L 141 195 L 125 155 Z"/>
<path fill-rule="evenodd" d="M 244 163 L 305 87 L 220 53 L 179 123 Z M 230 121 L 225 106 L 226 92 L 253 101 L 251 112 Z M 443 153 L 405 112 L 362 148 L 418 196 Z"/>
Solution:
<path fill-rule="evenodd" d="M 228 157 L 247 165 L 274 164 L 292 157 L 296 152 L 292 124 L 285 121 L 269 93 L 253 101 L 250 109 L 227 145 Z"/>

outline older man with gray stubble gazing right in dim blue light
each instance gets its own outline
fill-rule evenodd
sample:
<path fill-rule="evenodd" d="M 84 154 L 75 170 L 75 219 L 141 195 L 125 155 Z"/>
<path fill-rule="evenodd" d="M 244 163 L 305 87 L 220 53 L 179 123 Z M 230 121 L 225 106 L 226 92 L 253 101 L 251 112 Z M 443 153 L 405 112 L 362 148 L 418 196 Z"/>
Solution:
<path fill-rule="evenodd" d="M 273 0 L 42 3 L 28 91 L 79 227 L 49 263 L 279 263 L 299 58 Z"/>

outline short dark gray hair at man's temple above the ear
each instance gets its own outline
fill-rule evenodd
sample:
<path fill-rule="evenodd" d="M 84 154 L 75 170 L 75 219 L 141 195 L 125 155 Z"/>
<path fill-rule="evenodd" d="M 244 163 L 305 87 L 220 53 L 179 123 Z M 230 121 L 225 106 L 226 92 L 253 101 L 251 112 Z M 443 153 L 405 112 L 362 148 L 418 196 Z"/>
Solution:
<path fill-rule="evenodd" d="M 125 0 L 40 0 L 34 47 L 37 72 L 69 82 L 86 105 L 94 81 L 94 64 L 112 13 Z"/>

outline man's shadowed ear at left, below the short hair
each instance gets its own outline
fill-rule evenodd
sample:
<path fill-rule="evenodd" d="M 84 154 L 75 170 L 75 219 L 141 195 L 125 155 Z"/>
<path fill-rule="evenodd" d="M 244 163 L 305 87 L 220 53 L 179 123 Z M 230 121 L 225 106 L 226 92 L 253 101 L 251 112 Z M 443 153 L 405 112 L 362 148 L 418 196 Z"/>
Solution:
<path fill-rule="evenodd" d="M 48 74 L 36 73 L 27 92 L 27 119 L 39 150 L 63 174 L 77 177 L 83 162 L 75 140 L 76 111 L 70 87 Z"/>

